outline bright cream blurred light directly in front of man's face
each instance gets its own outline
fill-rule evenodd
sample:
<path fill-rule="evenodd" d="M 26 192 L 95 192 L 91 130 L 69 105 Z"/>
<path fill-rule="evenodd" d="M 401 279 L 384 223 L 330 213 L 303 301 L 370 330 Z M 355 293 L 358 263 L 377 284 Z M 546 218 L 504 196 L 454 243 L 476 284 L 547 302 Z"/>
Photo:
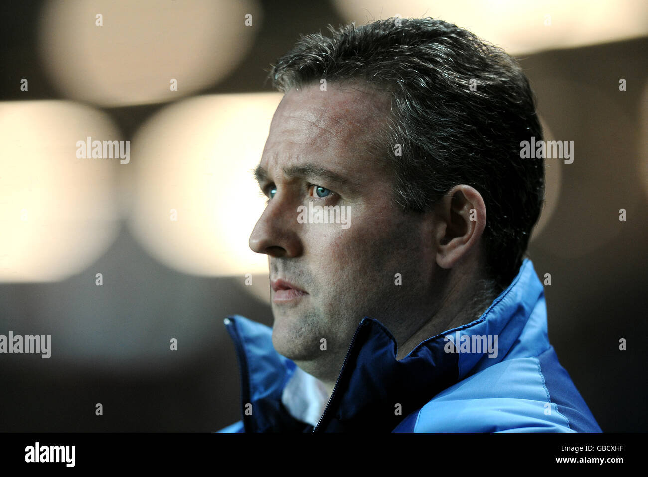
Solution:
<path fill-rule="evenodd" d="M 128 224 L 156 260 L 191 275 L 268 274 L 268 257 L 248 247 L 265 206 L 250 171 L 282 96 L 196 97 L 167 106 L 137 132 Z"/>

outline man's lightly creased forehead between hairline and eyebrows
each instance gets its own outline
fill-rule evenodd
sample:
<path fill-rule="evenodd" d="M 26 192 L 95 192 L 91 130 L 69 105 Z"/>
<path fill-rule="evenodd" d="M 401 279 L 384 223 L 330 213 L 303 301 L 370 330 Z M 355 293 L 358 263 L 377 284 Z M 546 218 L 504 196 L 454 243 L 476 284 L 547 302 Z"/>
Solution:
<path fill-rule="evenodd" d="M 366 171 L 367 147 L 384 127 L 390 104 L 388 95 L 355 83 L 329 82 L 326 91 L 319 84 L 293 88 L 275 111 L 260 165 L 285 167 L 299 157 Z"/>

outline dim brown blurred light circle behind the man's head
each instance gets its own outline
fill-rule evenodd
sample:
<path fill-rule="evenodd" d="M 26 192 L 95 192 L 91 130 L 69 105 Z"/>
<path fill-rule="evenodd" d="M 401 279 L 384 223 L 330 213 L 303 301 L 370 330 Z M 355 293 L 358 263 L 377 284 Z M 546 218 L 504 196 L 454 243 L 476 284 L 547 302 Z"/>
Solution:
<path fill-rule="evenodd" d="M 635 216 L 642 191 L 628 185 L 637 181 L 637 145 L 625 140 L 624 134 L 636 125 L 614 96 L 623 94 L 616 79 L 607 90 L 559 77 L 552 79 L 553 94 L 543 92 L 546 87 L 538 84 L 538 97 L 543 98 L 538 107 L 544 121 L 561 131 L 551 134 L 552 140 L 574 141 L 573 163 L 546 160 L 561 169 L 562 185 L 550 224 L 544 233 L 541 228 L 535 233 L 534 244 L 552 255 L 574 259 L 614 247 L 614 238 L 623 230 L 619 209 Z M 577 108 L 581 111 L 577 119 L 564 115 L 564 111 Z M 546 171 L 549 173 L 549 167 Z"/>

